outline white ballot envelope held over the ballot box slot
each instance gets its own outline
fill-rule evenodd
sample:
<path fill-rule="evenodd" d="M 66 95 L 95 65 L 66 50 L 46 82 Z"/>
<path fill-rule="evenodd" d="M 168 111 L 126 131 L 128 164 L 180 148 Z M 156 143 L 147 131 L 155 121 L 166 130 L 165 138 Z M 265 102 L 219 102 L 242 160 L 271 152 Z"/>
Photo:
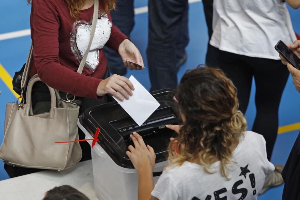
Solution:
<path fill-rule="evenodd" d="M 144 88 L 134 76 L 130 76 L 129 80 L 134 85 L 133 95 L 129 99 L 120 101 L 116 97 L 113 98 L 122 106 L 122 108 L 131 116 L 131 118 L 140 126 L 152 113 L 161 105 L 158 101 Z M 120 93 L 119 93 L 120 94 Z M 120 94 L 122 96 L 122 94 Z"/>

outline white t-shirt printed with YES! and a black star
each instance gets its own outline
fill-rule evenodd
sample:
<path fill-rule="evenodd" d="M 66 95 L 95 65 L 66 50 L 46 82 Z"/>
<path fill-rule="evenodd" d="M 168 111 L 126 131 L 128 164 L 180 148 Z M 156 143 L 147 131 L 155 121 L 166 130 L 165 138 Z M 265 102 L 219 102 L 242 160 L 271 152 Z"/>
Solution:
<path fill-rule="evenodd" d="M 211 166 L 214 174 L 187 161 L 182 166 L 169 167 L 151 194 L 160 200 L 257 199 L 267 173 L 274 171 L 274 165 L 267 159 L 265 139 L 247 131 L 233 151 L 232 160 L 236 163 L 229 165 L 230 180 L 221 175 L 220 162 Z"/>

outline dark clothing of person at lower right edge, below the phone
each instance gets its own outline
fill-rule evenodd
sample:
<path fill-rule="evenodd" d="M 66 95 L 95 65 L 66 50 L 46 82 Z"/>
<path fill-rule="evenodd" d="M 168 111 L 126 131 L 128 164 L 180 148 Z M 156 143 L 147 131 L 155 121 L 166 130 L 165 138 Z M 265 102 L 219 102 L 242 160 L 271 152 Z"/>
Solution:
<path fill-rule="evenodd" d="M 282 200 L 300 200 L 300 133 L 282 170 Z"/>

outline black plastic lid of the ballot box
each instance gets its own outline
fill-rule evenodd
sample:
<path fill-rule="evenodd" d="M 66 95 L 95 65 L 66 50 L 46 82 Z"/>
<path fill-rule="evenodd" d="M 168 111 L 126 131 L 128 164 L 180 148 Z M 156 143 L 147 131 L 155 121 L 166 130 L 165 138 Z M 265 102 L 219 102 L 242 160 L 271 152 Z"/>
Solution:
<path fill-rule="evenodd" d="M 128 146 L 133 145 L 130 139 L 133 132 L 154 148 L 155 163 L 167 160 L 167 146 L 176 133 L 165 125 L 178 124 L 178 109 L 173 100 L 176 90 L 163 89 L 151 94 L 161 106 L 140 127 L 116 101 L 91 107 L 79 117 L 79 123 L 91 136 L 100 128 L 98 143 L 119 166 L 134 168 L 125 154 Z"/>

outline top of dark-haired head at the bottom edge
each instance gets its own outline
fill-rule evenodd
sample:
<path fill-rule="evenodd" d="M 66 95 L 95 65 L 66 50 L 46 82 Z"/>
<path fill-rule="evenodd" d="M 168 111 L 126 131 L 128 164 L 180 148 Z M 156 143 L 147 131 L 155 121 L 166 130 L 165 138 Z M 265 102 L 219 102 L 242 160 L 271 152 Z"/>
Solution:
<path fill-rule="evenodd" d="M 48 192 L 43 200 L 89 200 L 83 193 L 69 185 L 55 187 Z"/>

